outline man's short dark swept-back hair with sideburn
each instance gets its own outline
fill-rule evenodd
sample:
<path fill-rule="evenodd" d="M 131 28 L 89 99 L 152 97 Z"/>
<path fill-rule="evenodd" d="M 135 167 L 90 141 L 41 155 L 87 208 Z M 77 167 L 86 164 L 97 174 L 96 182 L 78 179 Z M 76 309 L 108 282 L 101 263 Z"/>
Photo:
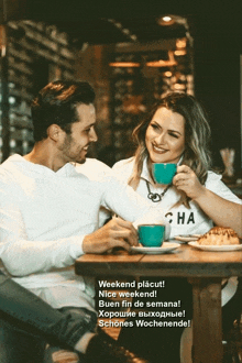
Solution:
<path fill-rule="evenodd" d="M 72 123 L 77 122 L 77 105 L 90 105 L 95 91 L 86 81 L 56 80 L 40 90 L 31 106 L 35 142 L 47 138 L 51 124 L 58 124 L 70 133 Z"/>

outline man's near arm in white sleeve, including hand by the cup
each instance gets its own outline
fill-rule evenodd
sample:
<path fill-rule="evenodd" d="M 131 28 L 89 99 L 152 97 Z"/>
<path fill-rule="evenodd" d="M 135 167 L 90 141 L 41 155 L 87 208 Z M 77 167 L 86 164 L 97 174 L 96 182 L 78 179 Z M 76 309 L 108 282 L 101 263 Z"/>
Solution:
<path fill-rule="evenodd" d="M 97 233 L 96 243 L 91 240 L 88 246 L 86 241 L 85 251 L 85 234 L 81 234 L 81 231 L 79 235 L 55 241 L 30 241 L 21 211 L 11 202 L 11 197 L 1 200 L 0 241 L 4 245 L 1 260 L 12 276 L 26 276 L 51 268 L 67 267 L 85 252 L 102 253 L 114 246 L 129 250 L 130 245 L 138 243 L 134 228 L 124 221 L 110 221 L 94 233 Z"/>

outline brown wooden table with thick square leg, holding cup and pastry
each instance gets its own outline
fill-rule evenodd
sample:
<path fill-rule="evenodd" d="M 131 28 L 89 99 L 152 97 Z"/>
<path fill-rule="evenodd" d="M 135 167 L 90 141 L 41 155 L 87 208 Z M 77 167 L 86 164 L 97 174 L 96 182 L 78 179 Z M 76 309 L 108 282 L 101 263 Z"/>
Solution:
<path fill-rule="evenodd" d="M 242 251 L 205 252 L 182 244 L 168 254 L 86 254 L 75 270 L 96 277 L 187 277 L 194 296 L 194 363 L 222 362 L 221 280 L 242 276 Z"/>

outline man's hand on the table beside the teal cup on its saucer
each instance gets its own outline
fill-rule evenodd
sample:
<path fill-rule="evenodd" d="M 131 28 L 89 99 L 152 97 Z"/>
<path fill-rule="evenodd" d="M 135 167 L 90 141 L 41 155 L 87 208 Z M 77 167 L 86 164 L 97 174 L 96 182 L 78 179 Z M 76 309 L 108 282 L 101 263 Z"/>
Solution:
<path fill-rule="evenodd" d="M 82 250 L 85 253 L 103 253 L 113 248 L 130 251 L 131 245 L 138 245 L 138 232 L 131 222 L 113 218 L 106 226 L 85 237 Z"/>

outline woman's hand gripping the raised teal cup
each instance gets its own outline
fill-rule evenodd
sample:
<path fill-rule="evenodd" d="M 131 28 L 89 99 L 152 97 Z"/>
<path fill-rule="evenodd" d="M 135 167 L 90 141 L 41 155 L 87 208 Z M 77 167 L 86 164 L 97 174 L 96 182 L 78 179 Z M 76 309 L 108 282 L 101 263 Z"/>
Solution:
<path fill-rule="evenodd" d="M 173 178 L 173 185 L 186 193 L 187 197 L 193 200 L 199 198 L 205 193 L 205 187 L 200 184 L 197 175 L 187 165 L 177 167 L 177 174 Z"/>

